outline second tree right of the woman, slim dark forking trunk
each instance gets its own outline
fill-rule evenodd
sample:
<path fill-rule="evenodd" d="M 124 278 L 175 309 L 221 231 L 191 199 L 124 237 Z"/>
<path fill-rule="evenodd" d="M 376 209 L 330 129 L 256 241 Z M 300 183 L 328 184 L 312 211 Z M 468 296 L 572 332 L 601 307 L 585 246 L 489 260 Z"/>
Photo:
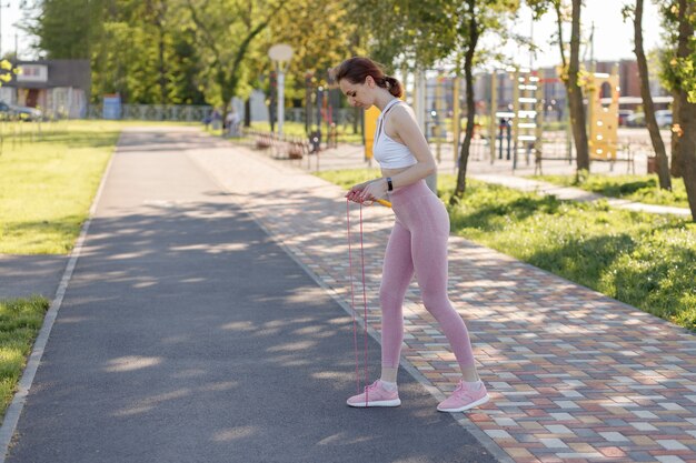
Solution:
<path fill-rule="evenodd" d="M 566 42 L 563 39 L 563 24 L 567 22 L 567 4 L 564 0 L 527 0 L 527 3 L 535 12 L 535 19 L 544 16 L 549 9 L 556 13 L 556 22 L 558 26 L 557 40 L 560 50 L 561 76 L 566 93 L 568 95 L 568 104 L 570 110 L 570 128 L 573 131 L 573 140 L 575 141 L 575 150 L 577 153 L 577 170 L 589 170 L 589 147 L 587 140 L 587 120 L 585 117 L 585 105 L 583 103 L 583 89 L 579 84 L 580 77 L 580 16 L 581 0 L 571 0 L 570 2 L 570 56 L 566 58 Z"/>

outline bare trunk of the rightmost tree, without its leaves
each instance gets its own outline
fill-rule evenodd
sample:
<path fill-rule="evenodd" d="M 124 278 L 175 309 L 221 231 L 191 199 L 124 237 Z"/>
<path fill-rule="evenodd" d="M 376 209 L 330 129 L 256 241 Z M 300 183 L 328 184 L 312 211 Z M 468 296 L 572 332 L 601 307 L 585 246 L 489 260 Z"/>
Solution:
<path fill-rule="evenodd" d="M 694 13 L 687 2 L 692 0 L 679 0 L 679 36 L 677 41 L 677 58 L 686 59 L 693 50 L 689 40 L 694 37 L 694 26 L 689 17 Z M 684 174 L 684 185 L 688 205 L 692 210 L 692 220 L 696 222 L 696 103 L 690 103 L 685 88 L 678 90 L 679 108 L 679 158 L 682 162 L 682 173 Z"/>

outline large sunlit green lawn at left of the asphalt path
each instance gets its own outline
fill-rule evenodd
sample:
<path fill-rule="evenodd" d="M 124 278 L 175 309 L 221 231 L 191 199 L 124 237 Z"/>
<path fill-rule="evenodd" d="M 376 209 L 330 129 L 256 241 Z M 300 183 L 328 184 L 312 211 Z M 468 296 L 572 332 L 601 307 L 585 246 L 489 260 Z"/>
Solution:
<path fill-rule="evenodd" d="M 68 253 L 121 130 L 163 124 L 0 123 L 0 254 Z"/>

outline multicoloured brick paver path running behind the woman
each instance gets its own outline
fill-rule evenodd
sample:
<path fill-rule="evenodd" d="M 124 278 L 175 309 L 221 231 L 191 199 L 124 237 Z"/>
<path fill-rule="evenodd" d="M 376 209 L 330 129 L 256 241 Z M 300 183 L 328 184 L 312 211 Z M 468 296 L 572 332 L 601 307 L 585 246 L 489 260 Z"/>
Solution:
<path fill-rule="evenodd" d="M 344 192 L 246 148 L 216 143 L 191 158 L 349 303 Z M 364 215 L 368 322 L 378 332 L 392 217 L 381 207 Z M 460 421 L 470 420 L 516 462 L 696 462 L 696 335 L 470 241 L 453 236 L 449 249 L 450 299 L 493 397 Z M 405 318 L 402 358 L 444 396 L 458 379 L 457 364 L 415 283 Z M 379 362 L 379 353 L 370 359 Z"/>

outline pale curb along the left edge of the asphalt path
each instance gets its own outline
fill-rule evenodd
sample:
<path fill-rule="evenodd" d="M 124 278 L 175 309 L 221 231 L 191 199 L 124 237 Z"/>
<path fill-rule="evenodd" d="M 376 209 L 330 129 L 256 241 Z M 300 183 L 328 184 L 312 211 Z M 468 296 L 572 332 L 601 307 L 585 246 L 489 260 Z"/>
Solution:
<path fill-rule="evenodd" d="M 43 356 L 46 344 L 48 343 L 51 329 L 53 328 L 53 323 L 56 322 L 56 319 L 58 316 L 58 311 L 60 310 L 60 306 L 62 304 L 66 291 L 68 289 L 68 284 L 70 283 L 70 279 L 72 278 L 72 272 L 74 271 L 78 259 L 80 258 L 80 253 L 82 252 L 82 246 L 87 239 L 87 233 L 92 222 L 92 218 L 95 217 L 95 212 L 97 211 L 97 204 L 99 204 L 99 200 L 106 184 L 106 179 L 109 177 L 109 172 L 111 171 L 111 165 L 118 150 L 120 138 L 121 135 L 119 135 L 119 140 L 116 142 L 113 152 L 109 158 L 109 163 L 107 164 L 107 168 L 101 175 L 101 181 L 99 183 L 99 188 L 97 189 L 97 194 L 95 194 L 92 205 L 89 209 L 87 220 L 82 224 L 80 234 L 78 236 L 74 248 L 72 249 L 72 252 L 70 252 L 70 258 L 68 259 L 68 263 L 66 264 L 66 270 L 63 271 L 62 278 L 60 279 L 58 289 L 56 290 L 56 296 L 53 298 L 53 301 L 51 302 L 51 305 L 46 313 L 46 316 L 43 318 L 43 324 L 41 325 L 41 330 L 39 331 L 39 334 L 37 335 L 37 339 L 33 343 L 31 354 L 29 355 L 27 365 L 24 366 L 24 371 L 22 372 L 22 376 L 19 381 L 18 390 L 14 393 L 14 397 L 12 399 L 12 402 L 4 413 L 2 426 L 0 426 L 0 463 L 4 463 L 10 446 L 12 444 L 12 437 L 14 436 L 14 431 L 17 430 L 19 417 L 24 407 L 24 403 L 27 402 L 29 390 L 31 389 L 33 379 L 37 374 L 37 370 L 39 369 L 39 364 L 41 363 L 41 358 Z"/>

